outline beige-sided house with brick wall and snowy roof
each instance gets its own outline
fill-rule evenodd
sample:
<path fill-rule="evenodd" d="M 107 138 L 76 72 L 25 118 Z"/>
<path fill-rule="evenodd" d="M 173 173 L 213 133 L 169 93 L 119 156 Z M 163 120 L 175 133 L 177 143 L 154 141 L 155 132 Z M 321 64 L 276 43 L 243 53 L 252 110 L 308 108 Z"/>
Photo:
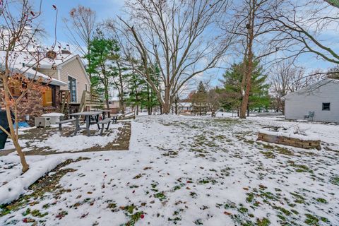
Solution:
<path fill-rule="evenodd" d="M 0 64 L 3 64 L 6 52 L 0 51 Z M 52 54 L 53 55 L 53 54 Z M 83 62 L 78 55 L 69 52 L 55 54 L 54 57 L 46 57 L 39 62 L 32 60 L 30 54 L 25 52 L 11 52 L 15 59 L 11 67 L 16 71 L 25 71 L 29 78 L 44 78 L 49 89 L 45 93 L 29 91 L 23 98 L 19 108 L 20 120 L 30 117 L 30 122 L 35 117 L 44 113 L 59 112 L 65 93 L 68 93 L 70 111 L 77 111 L 84 90 L 90 90 L 90 79 L 85 71 Z M 1 66 L 3 67 L 3 66 Z M 21 84 L 24 85 L 24 84 Z M 12 88 L 11 93 L 20 95 L 20 87 Z M 0 87 L 0 97 L 3 97 Z M 67 91 L 67 92 L 66 92 Z M 0 99 L 1 99 L 0 98 Z"/>

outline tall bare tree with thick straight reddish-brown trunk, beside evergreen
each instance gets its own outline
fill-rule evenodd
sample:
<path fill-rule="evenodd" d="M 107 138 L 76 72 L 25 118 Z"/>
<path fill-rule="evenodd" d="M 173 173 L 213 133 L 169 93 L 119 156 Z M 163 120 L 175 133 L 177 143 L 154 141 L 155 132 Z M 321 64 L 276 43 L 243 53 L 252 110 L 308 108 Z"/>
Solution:
<path fill-rule="evenodd" d="M 266 17 L 282 0 L 244 0 L 234 1 L 231 23 L 220 25 L 226 33 L 237 35 L 237 50 L 243 56 L 242 104 L 239 117 L 246 118 L 251 92 L 251 77 L 254 61 L 268 59 L 272 54 L 289 48 L 286 35 L 275 30 L 272 21 Z M 240 50 L 239 50 L 240 49 Z M 277 59 L 273 57 L 273 59 Z M 270 59 L 272 61 L 272 59 Z"/>

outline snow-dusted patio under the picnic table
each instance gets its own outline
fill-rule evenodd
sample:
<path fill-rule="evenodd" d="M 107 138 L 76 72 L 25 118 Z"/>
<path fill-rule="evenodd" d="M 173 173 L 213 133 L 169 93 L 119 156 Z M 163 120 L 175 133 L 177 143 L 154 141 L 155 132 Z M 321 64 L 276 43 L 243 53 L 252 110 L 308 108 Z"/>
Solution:
<path fill-rule="evenodd" d="M 114 141 L 121 138 L 123 135 L 121 131 L 128 130 L 126 127 L 126 122 L 111 124 L 109 130 L 105 129 L 102 136 L 96 124 L 90 126 L 91 136 L 86 136 L 85 130 L 78 131 L 78 134 L 73 136 L 74 124 L 65 124 L 61 132 L 57 125 L 49 128 L 20 129 L 20 145 L 29 155 L 112 150 L 112 145 L 120 145 Z M 4 150 L 15 150 L 11 139 L 8 139 Z"/>

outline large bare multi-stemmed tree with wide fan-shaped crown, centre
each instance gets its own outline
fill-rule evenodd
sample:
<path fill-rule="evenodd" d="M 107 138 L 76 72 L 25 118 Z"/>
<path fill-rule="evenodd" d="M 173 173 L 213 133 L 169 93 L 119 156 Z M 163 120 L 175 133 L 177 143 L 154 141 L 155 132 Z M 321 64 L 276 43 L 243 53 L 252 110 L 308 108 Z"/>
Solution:
<path fill-rule="evenodd" d="M 231 43 L 215 25 L 225 0 L 127 1 L 126 36 L 137 50 L 145 70 L 137 72 L 157 93 L 162 112 L 168 114 L 181 88 L 194 76 L 218 65 Z M 121 29 L 122 30 L 122 29 Z M 160 68 L 160 88 L 150 79 Z"/>

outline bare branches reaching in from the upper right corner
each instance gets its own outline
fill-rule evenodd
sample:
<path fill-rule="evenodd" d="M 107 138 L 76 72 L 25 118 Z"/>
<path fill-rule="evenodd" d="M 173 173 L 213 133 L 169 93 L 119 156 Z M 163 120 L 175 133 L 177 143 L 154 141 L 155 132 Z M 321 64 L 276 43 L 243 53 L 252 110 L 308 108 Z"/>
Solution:
<path fill-rule="evenodd" d="M 321 38 L 324 30 L 338 28 L 338 8 L 323 0 L 283 1 L 276 5 L 275 11 L 266 11 L 265 17 L 275 23 L 275 30 L 287 35 L 293 43 L 290 57 L 311 53 L 324 61 L 339 64 L 339 53 L 332 47 L 333 42 Z"/>

